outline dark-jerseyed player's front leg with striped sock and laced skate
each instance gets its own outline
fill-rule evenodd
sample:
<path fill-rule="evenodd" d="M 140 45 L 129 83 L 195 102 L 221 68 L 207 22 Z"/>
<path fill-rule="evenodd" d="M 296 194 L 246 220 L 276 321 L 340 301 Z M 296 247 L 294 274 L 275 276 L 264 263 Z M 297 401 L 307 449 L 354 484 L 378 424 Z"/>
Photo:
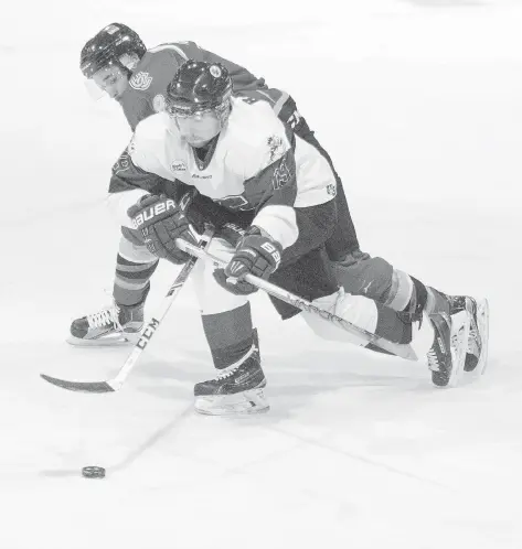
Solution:
<path fill-rule="evenodd" d="M 122 227 L 116 259 L 114 303 L 76 319 L 67 342 L 72 345 L 135 343 L 143 326 L 143 306 L 158 258 L 142 245 L 138 232 Z"/>

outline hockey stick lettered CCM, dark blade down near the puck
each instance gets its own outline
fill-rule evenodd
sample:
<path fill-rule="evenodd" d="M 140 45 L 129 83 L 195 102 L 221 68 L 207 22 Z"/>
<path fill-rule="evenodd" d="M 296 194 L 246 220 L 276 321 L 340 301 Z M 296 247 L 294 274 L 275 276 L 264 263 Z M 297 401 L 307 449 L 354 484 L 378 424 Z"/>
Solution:
<path fill-rule="evenodd" d="M 194 249 L 203 251 L 210 244 L 212 239 L 213 230 L 207 229 L 201 237 L 199 246 L 194 246 Z M 61 387 L 62 389 L 79 391 L 79 392 L 114 392 L 121 388 L 127 376 L 130 374 L 131 369 L 136 366 L 141 353 L 145 351 L 150 340 L 155 335 L 158 326 L 161 321 L 164 319 L 168 313 L 170 306 L 174 302 L 175 298 L 180 293 L 183 284 L 185 283 L 189 274 L 194 268 L 195 262 L 198 261 L 198 256 L 192 255 L 192 257 L 187 261 L 183 266 L 179 274 L 175 277 L 174 282 L 170 287 L 167 295 L 164 297 L 163 302 L 161 303 L 161 308 L 158 311 L 157 316 L 152 316 L 150 322 L 147 324 L 147 327 L 141 333 L 141 337 L 138 343 L 135 345 L 134 349 L 130 352 L 130 355 L 125 360 L 124 366 L 121 366 L 120 370 L 113 379 L 107 379 L 105 381 L 67 381 L 65 379 L 57 379 L 55 377 L 47 376 L 45 374 L 40 374 L 42 379 L 49 381 L 56 387 Z"/>

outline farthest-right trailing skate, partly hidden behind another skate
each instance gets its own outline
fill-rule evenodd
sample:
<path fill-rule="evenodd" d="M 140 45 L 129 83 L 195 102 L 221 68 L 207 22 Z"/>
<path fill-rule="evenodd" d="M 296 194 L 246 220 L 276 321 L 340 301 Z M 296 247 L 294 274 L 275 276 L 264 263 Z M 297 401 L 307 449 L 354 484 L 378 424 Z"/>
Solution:
<path fill-rule="evenodd" d="M 468 295 L 448 295 L 451 308 L 466 309 L 469 314 L 469 337 L 465 372 L 483 374 L 488 360 L 489 303 Z"/>

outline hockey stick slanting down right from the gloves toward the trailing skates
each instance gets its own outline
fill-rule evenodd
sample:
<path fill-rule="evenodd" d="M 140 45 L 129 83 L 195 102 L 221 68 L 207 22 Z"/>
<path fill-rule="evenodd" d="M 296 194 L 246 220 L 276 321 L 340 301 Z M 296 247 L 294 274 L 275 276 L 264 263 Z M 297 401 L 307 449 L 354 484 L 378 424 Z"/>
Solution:
<path fill-rule="evenodd" d="M 209 254 L 209 251 L 206 251 L 205 249 L 193 246 L 185 240 L 181 240 L 180 238 L 178 238 L 175 240 L 175 244 L 180 249 L 187 251 L 191 256 L 204 259 L 206 261 L 212 261 L 217 267 L 226 267 L 227 265 L 226 260 L 221 259 L 212 254 Z M 362 327 L 359 327 L 355 324 L 352 324 L 351 322 L 342 319 L 341 316 L 338 316 L 337 314 L 333 314 L 330 311 L 327 311 L 326 309 L 321 309 L 320 306 L 315 305 L 310 301 L 299 298 L 298 295 L 295 295 L 294 293 L 290 293 L 287 290 L 284 290 L 283 288 L 279 288 L 278 286 L 273 284 L 266 280 L 263 280 L 262 278 L 255 277 L 254 274 L 246 274 L 245 280 L 249 282 L 252 286 L 255 286 L 256 288 L 264 290 L 270 295 L 274 295 L 274 298 L 285 301 L 286 303 L 289 303 L 290 305 L 294 305 L 297 309 L 300 309 L 301 311 L 306 311 L 317 316 L 320 316 L 322 320 L 330 322 L 331 324 L 340 327 L 341 330 L 344 330 L 345 332 L 350 333 L 355 337 L 359 337 L 362 341 L 372 343 L 373 345 L 382 348 L 383 351 L 387 351 L 388 353 L 392 353 L 396 356 L 401 356 L 402 358 L 406 358 L 408 360 L 417 359 L 417 355 L 415 354 L 415 351 L 412 348 L 411 345 L 393 343 L 388 340 L 385 340 L 384 337 L 372 334 L 371 332 L 363 330 Z"/>

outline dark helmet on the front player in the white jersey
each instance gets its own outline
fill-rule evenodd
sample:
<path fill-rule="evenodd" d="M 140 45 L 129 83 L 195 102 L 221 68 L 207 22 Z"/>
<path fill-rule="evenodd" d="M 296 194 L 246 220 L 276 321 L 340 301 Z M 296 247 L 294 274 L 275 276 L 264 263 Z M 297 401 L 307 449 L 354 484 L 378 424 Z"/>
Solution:
<path fill-rule="evenodd" d="M 232 78 L 221 63 L 188 60 L 167 87 L 166 110 L 177 117 L 214 110 L 221 117 L 230 110 Z"/>

